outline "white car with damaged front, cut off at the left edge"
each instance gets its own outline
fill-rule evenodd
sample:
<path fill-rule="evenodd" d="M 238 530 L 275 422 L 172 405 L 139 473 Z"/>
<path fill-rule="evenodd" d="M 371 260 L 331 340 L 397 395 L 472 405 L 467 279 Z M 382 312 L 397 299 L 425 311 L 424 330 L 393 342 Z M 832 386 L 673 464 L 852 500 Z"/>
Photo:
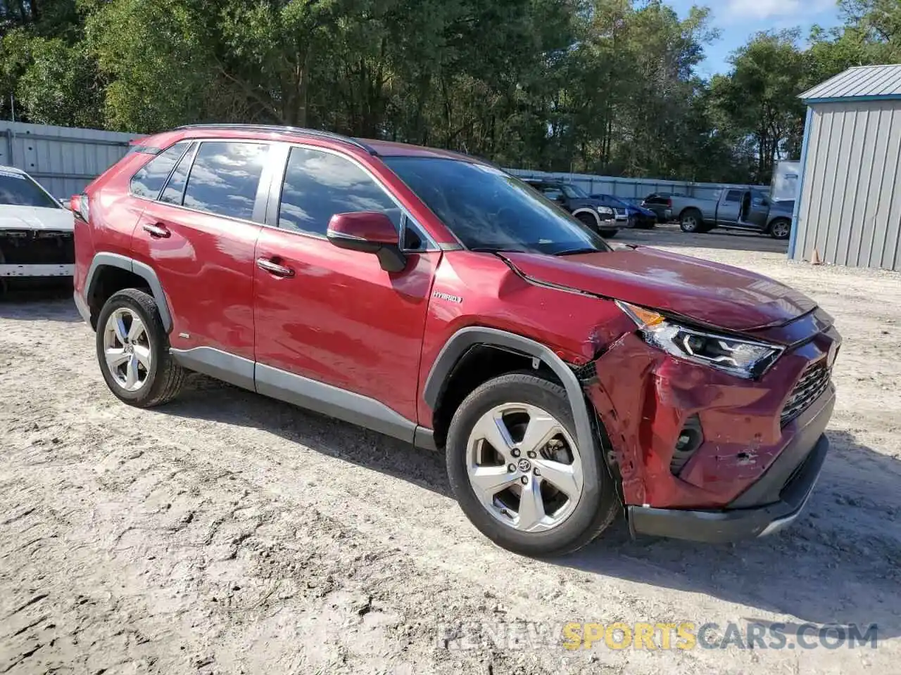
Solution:
<path fill-rule="evenodd" d="M 72 211 L 32 176 L 0 166 L 0 285 L 9 277 L 72 276 Z"/>

